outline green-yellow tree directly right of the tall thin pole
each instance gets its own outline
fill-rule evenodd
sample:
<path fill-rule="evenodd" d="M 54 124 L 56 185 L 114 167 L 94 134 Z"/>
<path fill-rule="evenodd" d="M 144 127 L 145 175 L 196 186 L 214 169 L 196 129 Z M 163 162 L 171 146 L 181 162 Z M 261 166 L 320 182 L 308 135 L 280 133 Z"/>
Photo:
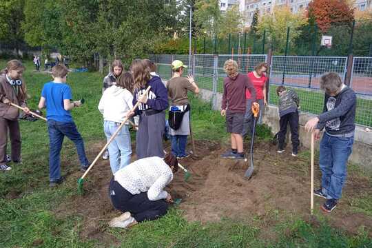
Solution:
<path fill-rule="evenodd" d="M 211 37 L 218 35 L 222 14 L 218 0 L 196 0 L 194 17 L 197 25 Z"/>

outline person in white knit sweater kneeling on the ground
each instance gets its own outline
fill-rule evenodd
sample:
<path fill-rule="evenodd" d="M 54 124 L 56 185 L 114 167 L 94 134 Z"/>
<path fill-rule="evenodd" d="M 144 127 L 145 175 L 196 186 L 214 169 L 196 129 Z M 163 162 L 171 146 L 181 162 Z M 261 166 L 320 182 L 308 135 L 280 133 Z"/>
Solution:
<path fill-rule="evenodd" d="M 177 171 L 178 161 L 171 153 L 165 158 L 141 158 L 118 170 L 110 181 L 109 193 L 112 205 L 124 214 L 113 218 L 110 227 L 132 227 L 165 215 L 173 200 L 164 188 Z"/>

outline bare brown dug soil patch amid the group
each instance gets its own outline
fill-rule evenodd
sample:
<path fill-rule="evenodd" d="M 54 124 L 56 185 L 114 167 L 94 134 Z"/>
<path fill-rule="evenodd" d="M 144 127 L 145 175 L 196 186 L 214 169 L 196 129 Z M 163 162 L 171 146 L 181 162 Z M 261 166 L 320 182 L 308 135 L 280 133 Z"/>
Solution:
<path fill-rule="evenodd" d="M 90 145 L 88 156 L 93 158 L 103 145 Z M 166 149 L 169 151 L 169 147 Z M 287 215 L 309 218 L 309 159 L 294 158 L 289 152 L 278 154 L 274 145 L 256 143 L 254 174 L 246 180 L 244 174 L 250 163 L 249 156 L 248 162 L 220 158 L 226 149 L 216 142 L 196 141 L 197 156 L 179 161 L 192 176 L 185 180 L 183 171 L 179 170 L 167 190 L 174 198 L 182 198 L 178 207 L 183 209 L 187 220 L 207 223 L 227 217 L 247 222 L 260 220 L 258 225 L 261 227 L 271 227 Z M 320 178 L 318 165 L 315 169 L 317 187 Z M 79 176 L 81 173 L 76 172 L 69 180 L 76 182 Z M 84 182 L 83 196 L 72 198 L 56 210 L 57 216 L 61 217 L 70 214 L 82 216 L 83 227 L 80 230 L 83 238 L 97 238 L 103 242 L 110 239 L 104 230 L 108 221 L 120 214 L 112 207 L 108 196 L 111 177 L 109 162 L 99 161 Z M 364 226 L 371 233 L 372 217 L 353 211 L 351 207 L 353 198 L 371 194 L 368 177 L 349 176 L 339 206 L 332 214 L 327 214 L 331 224 L 352 234 Z M 315 198 L 315 211 L 322 203 L 324 199 Z"/>

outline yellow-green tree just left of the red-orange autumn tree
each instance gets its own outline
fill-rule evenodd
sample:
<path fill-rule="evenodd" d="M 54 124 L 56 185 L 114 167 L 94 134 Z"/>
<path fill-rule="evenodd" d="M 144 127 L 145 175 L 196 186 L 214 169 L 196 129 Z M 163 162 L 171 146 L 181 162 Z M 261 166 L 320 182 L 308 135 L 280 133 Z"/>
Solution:
<path fill-rule="evenodd" d="M 284 52 L 287 40 L 287 28 L 290 28 L 289 43 L 301 34 L 300 27 L 307 23 L 302 13 L 293 14 L 288 7 L 277 7 L 272 15 L 265 14 L 258 23 L 258 34 L 267 31 L 269 42 L 272 42 L 275 50 Z"/>

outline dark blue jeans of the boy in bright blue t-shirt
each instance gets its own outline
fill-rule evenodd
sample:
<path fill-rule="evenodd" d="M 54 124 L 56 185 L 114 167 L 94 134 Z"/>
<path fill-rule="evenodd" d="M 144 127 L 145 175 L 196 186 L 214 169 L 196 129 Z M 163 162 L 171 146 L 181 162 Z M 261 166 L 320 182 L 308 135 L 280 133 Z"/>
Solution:
<path fill-rule="evenodd" d="M 64 123 L 48 120 L 49 133 L 49 180 L 51 182 L 61 178 L 61 148 L 63 138 L 67 136 L 75 144 L 79 160 L 82 166 L 89 165 L 87 156 L 85 156 L 84 141 L 81 138 L 75 123 Z"/>

